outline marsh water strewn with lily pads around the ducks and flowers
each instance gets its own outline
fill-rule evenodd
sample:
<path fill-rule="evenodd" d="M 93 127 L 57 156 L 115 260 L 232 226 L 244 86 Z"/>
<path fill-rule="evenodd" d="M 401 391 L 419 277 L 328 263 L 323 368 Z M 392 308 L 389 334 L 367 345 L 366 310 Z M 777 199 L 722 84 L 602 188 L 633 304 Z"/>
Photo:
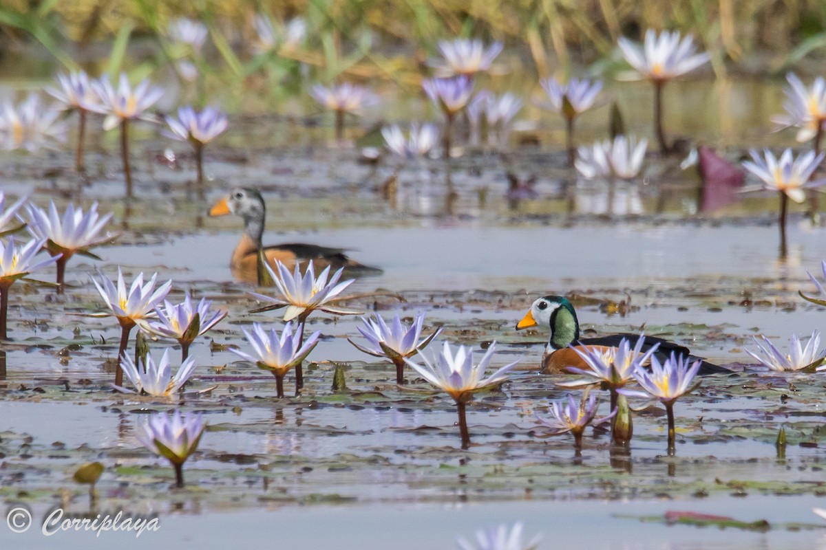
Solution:
<path fill-rule="evenodd" d="M 669 131 L 714 136 L 710 144 L 733 160 L 747 147 L 791 140 L 757 122 L 780 110 L 779 83 L 687 82 L 670 92 L 672 109 L 682 108 L 672 111 Z M 824 546 L 826 522 L 810 511 L 826 505 L 824 374 L 771 374 L 744 366 L 753 360 L 743 351 L 754 349 L 758 334 L 786 346 L 790 334 L 823 327 L 824 309 L 798 296 L 814 292 L 805 270 L 819 273 L 826 259 L 819 220 L 795 209 L 789 255 L 779 259 L 776 196 L 738 195 L 700 212 L 695 168 L 653 154 L 638 184 L 577 181 L 556 144 L 561 125 L 538 112 L 520 115 L 506 154 L 468 150 L 449 165 L 405 166 L 387 156 L 363 162 L 369 139 L 329 143 L 323 118 L 307 127 L 286 116 L 239 116 L 231 137 L 207 150 L 207 200 L 192 194 L 188 150 L 149 129 L 135 149 L 130 204 L 121 199 L 109 136 L 93 136 L 87 178 L 71 171 L 69 151 L 7 157 L 0 165 L 7 195 L 41 206 L 97 200 L 102 212 L 115 212 L 112 231 L 122 234 L 97 250 L 103 261 L 69 263 L 64 297 L 34 284 L 13 287 L 12 340 L 2 348 L 0 494 L 9 505 L 26 503 L 36 518 L 57 505 L 83 513 L 87 488 L 72 473 L 100 461 L 98 510 L 159 515 L 161 529 L 140 538 L 0 529 L 3 548 L 216 548 L 240 536 L 278 548 L 454 548 L 456 535 L 517 520 L 529 537 L 545 534 L 541 548 Z M 605 118 L 584 117 L 583 142 Z M 373 115 L 363 125 L 377 122 Z M 520 132 L 538 135 L 541 145 L 518 146 Z M 535 194 L 507 195 L 507 172 L 535 176 Z M 426 310 L 429 330 L 444 327 L 444 340 L 496 341 L 493 366 L 520 360 L 501 391 L 468 407 L 470 449 L 460 448 L 449 397 L 411 373 L 409 384 L 396 386 L 392 364 L 349 344 L 360 338 L 357 317 L 310 317 L 323 340 L 294 397 L 276 398 L 272 376 L 226 349 L 246 346 L 241 329 L 251 322 L 278 323 L 276 313 L 249 313 L 256 289 L 230 272 L 240 219 L 205 215 L 233 186 L 262 190 L 267 243 L 342 247 L 383 270 L 350 287 L 361 297 L 349 307 L 406 317 Z M 229 311 L 192 346 L 198 367 L 183 397 L 112 393 L 120 331 L 112 318 L 78 313 L 102 310 L 90 276 L 96 269 L 114 276 L 116 266 L 127 277 L 158 272 L 174 280 L 172 298 L 189 290 Z M 582 454 L 567 435 L 541 437 L 534 412 L 548 414 L 549 402 L 566 396 L 555 385 L 566 377 L 536 374 L 547 335 L 514 327 L 544 294 L 570 295 L 589 334 L 644 328 L 729 365 L 731 374 L 705 378 L 676 403 L 675 456 L 666 453 L 657 407 L 636 415 L 628 449 L 613 447 L 602 428 L 587 430 Z M 153 342 L 153 355 L 168 345 Z M 344 366 L 347 390 L 331 388 L 336 365 Z M 174 407 L 202 411 L 209 424 L 183 490 L 170 489 L 172 470 L 135 439 L 147 413 Z M 785 457 L 775 446 L 781 426 Z M 666 524 L 668 511 L 768 524 L 697 529 Z"/>

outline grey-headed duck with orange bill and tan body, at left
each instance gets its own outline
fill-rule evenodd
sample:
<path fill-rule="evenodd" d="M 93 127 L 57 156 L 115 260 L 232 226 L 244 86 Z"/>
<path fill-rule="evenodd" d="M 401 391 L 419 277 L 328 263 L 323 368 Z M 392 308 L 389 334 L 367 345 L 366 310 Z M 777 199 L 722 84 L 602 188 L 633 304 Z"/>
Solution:
<path fill-rule="evenodd" d="M 342 248 L 321 247 L 303 242 L 264 247 L 262 237 L 267 208 L 259 190 L 249 187 L 230 190 L 228 195 L 211 206 L 208 214 L 210 216 L 234 214 L 244 220 L 244 233 L 230 258 L 230 270 L 237 279 L 258 282 L 260 251 L 263 251 L 268 264 L 273 268 L 275 262 L 280 261 L 287 269 L 292 270 L 298 265 L 299 269 L 304 270 L 312 261 L 317 272 L 330 266 L 333 270 L 344 268 L 351 273 L 360 272 L 371 275 L 382 273 L 382 270 L 377 267 L 365 266 L 358 261 L 351 260 Z"/>

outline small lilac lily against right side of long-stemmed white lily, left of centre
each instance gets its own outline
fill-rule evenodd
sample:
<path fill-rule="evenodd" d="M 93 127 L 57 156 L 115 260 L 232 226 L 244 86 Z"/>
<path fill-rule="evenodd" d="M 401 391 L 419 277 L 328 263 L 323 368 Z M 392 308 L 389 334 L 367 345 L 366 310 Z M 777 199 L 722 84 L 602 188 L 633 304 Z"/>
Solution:
<path fill-rule="evenodd" d="M 226 317 L 225 311 L 210 311 L 211 300 L 202 298 L 197 306 L 192 307 L 192 298 L 189 293 L 181 303 L 170 303 L 164 300 L 164 307 L 154 308 L 157 321 L 147 321 L 143 327 L 158 336 L 173 338 L 181 345 L 181 360 L 189 356 L 189 346 L 198 336 L 206 334 L 215 327 L 221 319 Z"/>

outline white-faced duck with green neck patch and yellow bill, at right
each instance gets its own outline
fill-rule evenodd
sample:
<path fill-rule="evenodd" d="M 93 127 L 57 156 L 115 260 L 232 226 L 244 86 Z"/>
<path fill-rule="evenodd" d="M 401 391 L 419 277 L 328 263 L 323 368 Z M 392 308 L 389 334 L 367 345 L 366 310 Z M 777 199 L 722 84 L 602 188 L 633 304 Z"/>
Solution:
<path fill-rule="evenodd" d="M 641 336 L 638 334 L 610 334 L 596 338 L 580 338 L 579 320 L 573 304 L 564 296 L 553 294 L 536 299 L 531 304 L 528 313 L 525 313 L 525 317 L 522 317 L 520 322 L 516 323 L 517 331 L 529 327 L 548 327 L 551 331 L 548 345 L 545 346 L 542 355 L 542 374 L 568 374 L 568 367 L 588 369 L 585 360 L 574 349 L 582 351 L 584 348 L 591 348 L 596 353 L 604 353 L 610 348 L 619 346 L 619 342 L 623 339 L 628 340 L 631 346 L 636 346 Z M 657 344 L 659 344 L 659 347 L 655 355 L 659 360 L 665 360 L 674 353 L 677 356 L 688 356 L 692 360 L 701 360 L 699 374 L 729 372 L 724 367 L 691 355 L 691 351 L 686 346 L 655 336 L 645 336 L 643 351 L 649 350 Z"/>

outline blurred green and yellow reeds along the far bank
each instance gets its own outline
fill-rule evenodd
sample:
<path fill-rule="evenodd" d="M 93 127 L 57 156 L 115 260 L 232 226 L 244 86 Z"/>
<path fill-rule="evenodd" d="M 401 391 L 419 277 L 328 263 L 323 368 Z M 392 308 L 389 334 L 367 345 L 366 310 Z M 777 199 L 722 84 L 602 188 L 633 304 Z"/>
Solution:
<path fill-rule="evenodd" d="M 259 14 L 276 24 L 301 17 L 306 39 L 261 55 Z M 180 16 L 209 29 L 201 98 L 239 87 L 277 95 L 342 76 L 418 86 L 438 41 L 456 36 L 503 41 L 501 73 L 533 79 L 610 72 L 621 63 L 617 38 L 640 40 L 649 27 L 692 33 L 718 77 L 806 73 L 806 62 L 817 73 L 826 51 L 824 0 L 0 0 L 0 76 L 50 78 L 63 65 L 158 77 L 181 57 L 164 40 Z"/>

